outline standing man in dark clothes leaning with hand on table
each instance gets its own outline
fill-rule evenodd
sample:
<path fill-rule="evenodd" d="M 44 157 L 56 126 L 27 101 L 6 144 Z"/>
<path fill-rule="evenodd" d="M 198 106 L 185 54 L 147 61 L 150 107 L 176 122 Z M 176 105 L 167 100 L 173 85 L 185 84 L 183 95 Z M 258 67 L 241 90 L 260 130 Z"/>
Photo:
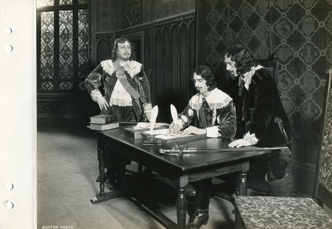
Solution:
<path fill-rule="evenodd" d="M 234 45 L 228 49 L 226 69 L 239 77 L 237 140 L 230 147 L 282 147 L 291 143 L 288 120 L 277 86 L 269 71 L 257 63 L 248 48 Z M 288 171 L 289 149 L 275 149 L 268 154 L 266 181 L 271 196 L 294 193 L 293 176 Z"/>

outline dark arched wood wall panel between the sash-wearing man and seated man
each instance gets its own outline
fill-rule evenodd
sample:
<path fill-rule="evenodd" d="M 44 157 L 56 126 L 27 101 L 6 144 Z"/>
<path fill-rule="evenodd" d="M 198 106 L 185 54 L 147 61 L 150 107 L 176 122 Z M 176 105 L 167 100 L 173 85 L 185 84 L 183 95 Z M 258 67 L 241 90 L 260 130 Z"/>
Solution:
<path fill-rule="evenodd" d="M 194 95 L 195 30 L 194 15 L 163 21 L 155 27 L 151 95 L 158 104 L 160 121 L 172 121 L 170 104 L 180 112 Z"/>

